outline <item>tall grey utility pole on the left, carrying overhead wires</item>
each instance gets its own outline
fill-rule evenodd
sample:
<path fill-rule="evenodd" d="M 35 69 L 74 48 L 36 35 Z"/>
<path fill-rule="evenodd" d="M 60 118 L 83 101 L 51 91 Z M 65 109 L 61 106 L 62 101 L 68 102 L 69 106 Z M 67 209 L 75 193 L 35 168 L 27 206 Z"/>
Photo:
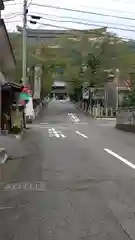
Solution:
<path fill-rule="evenodd" d="M 23 35 L 22 35 L 22 81 L 27 81 L 27 0 L 23 2 Z"/>

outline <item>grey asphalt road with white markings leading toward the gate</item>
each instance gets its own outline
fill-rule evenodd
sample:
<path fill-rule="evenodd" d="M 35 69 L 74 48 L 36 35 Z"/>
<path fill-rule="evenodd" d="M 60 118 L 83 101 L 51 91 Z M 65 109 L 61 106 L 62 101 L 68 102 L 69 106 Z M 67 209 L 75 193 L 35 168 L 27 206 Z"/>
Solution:
<path fill-rule="evenodd" d="M 52 101 L 0 191 L 1 240 L 135 239 L 135 135 Z"/>

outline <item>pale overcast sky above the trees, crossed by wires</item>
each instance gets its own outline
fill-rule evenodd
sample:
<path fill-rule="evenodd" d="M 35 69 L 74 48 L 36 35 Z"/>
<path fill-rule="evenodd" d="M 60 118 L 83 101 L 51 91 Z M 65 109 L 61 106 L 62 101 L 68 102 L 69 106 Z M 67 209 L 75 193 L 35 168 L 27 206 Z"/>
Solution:
<path fill-rule="evenodd" d="M 47 5 L 70 8 L 80 12 L 45 7 Z M 107 26 L 109 32 L 114 32 L 123 38 L 135 39 L 135 0 L 28 0 L 28 6 L 28 28 L 93 29 Z M 16 31 L 17 25 L 22 26 L 22 13 L 23 0 L 5 2 L 2 16 L 8 31 Z M 29 22 L 31 15 L 41 17 L 36 25 Z M 117 16 L 117 18 L 112 16 Z"/>

